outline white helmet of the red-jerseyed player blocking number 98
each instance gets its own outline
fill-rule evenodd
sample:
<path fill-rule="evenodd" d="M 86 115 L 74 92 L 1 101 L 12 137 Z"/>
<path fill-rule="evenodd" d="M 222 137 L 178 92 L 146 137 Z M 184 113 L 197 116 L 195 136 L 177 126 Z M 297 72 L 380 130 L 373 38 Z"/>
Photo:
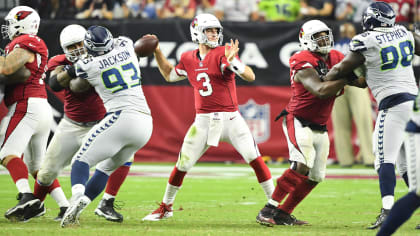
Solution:
<path fill-rule="evenodd" d="M 327 32 L 327 35 L 315 38 L 315 34 L 320 32 Z M 334 46 L 331 29 L 320 20 L 310 20 L 302 25 L 299 32 L 299 42 L 302 50 L 319 52 L 321 54 L 328 54 Z"/>

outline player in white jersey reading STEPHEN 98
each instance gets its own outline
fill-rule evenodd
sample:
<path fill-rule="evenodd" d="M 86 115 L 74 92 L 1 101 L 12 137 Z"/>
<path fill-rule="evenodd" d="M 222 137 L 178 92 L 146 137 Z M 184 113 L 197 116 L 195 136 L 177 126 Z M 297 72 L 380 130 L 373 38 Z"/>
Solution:
<path fill-rule="evenodd" d="M 335 80 L 366 66 L 367 85 L 379 104 L 373 148 L 382 209 L 369 229 L 378 228 L 394 204 L 395 164 L 399 157 L 404 158 L 400 151 L 405 127 L 418 91 L 411 61 L 414 54 L 420 55 L 419 38 L 394 23 L 395 13 L 388 3 L 371 3 L 363 14 L 364 32 L 353 37 L 350 53 L 326 76 L 327 80 Z"/>

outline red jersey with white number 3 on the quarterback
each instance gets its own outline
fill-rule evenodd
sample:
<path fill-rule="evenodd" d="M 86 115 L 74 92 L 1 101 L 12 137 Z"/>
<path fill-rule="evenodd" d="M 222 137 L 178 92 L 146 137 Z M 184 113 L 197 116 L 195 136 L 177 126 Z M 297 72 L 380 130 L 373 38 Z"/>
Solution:
<path fill-rule="evenodd" d="M 200 60 L 198 49 L 184 52 L 175 71 L 187 76 L 194 88 L 196 113 L 238 110 L 235 74 L 226 67 L 225 47 L 219 46 Z"/>

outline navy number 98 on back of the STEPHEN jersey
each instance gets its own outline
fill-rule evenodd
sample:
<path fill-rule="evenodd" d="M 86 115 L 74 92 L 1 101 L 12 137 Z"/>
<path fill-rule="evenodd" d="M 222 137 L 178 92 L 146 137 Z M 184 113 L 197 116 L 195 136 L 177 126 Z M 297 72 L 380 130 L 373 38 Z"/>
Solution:
<path fill-rule="evenodd" d="M 407 67 L 411 65 L 413 60 L 413 44 L 411 41 L 401 42 L 399 48 L 389 46 L 381 49 L 382 66 L 381 70 L 393 70 L 398 66 L 401 59 L 401 66 Z"/>

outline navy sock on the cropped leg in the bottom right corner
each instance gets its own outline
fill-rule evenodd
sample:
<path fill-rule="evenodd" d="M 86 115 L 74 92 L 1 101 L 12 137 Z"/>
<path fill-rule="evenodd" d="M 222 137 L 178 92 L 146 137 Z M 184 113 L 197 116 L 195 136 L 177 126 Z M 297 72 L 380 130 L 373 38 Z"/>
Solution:
<path fill-rule="evenodd" d="M 383 236 L 393 234 L 419 207 L 420 197 L 414 192 L 409 192 L 394 204 L 377 235 Z"/>

